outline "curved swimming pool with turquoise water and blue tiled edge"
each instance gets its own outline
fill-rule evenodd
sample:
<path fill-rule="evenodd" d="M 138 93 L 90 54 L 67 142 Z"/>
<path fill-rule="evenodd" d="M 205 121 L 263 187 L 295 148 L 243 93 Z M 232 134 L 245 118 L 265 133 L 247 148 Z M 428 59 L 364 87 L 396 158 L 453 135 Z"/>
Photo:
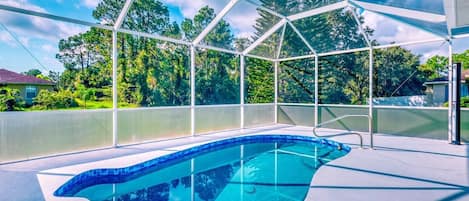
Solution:
<path fill-rule="evenodd" d="M 237 137 L 126 168 L 89 170 L 54 195 L 93 201 L 303 200 L 318 168 L 349 151 L 312 137 Z"/>

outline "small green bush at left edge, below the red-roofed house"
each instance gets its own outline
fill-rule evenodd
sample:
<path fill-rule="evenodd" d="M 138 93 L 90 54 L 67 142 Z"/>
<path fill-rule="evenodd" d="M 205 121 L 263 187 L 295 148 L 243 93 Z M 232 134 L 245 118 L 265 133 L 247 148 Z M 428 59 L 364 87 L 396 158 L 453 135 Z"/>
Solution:
<path fill-rule="evenodd" d="M 19 90 L 8 87 L 0 88 L 0 111 L 22 111 L 24 104 Z"/>

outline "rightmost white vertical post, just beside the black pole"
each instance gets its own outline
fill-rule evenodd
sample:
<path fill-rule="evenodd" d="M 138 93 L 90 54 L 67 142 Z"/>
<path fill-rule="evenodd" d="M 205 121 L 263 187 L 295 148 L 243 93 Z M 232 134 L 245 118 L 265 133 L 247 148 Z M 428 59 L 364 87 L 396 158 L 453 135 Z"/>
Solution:
<path fill-rule="evenodd" d="M 453 142 L 453 42 L 448 40 L 448 143 Z"/>

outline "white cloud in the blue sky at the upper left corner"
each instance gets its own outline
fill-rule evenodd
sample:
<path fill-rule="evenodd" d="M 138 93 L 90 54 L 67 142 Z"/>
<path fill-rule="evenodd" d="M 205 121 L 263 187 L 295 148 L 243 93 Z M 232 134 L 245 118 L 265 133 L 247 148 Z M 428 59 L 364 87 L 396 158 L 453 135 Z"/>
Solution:
<path fill-rule="evenodd" d="M 47 13 L 46 9 L 32 5 L 27 0 L 4 0 L 2 4 Z M 55 59 L 60 39 L 89 30 L 88 27 L 84 26 L 4 11 L 0 11 L 0 23 L 12 32 L 23 45 L 28 47 L 40 59 L 41 63 L 46 65 L 48 69 L 56 71 L 63 70 L 63 65 Z M 10 47 L 15 47 L 12 51 L 22 51 L 16 49 L 19 48 L 18 42 L 2 29 L 0 29 L 0 41 Z M 11 62 L 12 65 L 29 66 L 37 64 L 35 62 L 20 64 L 20 62 L 13 61 L 12 58 L 6 59 L 8 61 L 4 63 Z M 31 59 L 25 58 L 25 60 Z"/>

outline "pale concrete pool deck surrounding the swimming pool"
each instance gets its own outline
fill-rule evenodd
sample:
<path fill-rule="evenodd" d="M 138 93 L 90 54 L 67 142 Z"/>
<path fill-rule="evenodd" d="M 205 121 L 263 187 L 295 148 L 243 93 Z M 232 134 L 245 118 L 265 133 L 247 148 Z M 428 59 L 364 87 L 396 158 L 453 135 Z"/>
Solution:
<path fill-rule="evenodd" d="M 311 133 L 310 127 L 273 125 L 0 165 L 0 200 L 80 200 L 56 199 L 52 192 L 85 170 L 124 167 L 208 141 Z M 349 144 L 352 151 L 318 170 L 306 200 L 469 200 L 468 145 L 376 134 L 372 150 L 360 149 L 356 136 L 331 139 Z M 368 136 L 364 142 L 369 144 Z"/>

